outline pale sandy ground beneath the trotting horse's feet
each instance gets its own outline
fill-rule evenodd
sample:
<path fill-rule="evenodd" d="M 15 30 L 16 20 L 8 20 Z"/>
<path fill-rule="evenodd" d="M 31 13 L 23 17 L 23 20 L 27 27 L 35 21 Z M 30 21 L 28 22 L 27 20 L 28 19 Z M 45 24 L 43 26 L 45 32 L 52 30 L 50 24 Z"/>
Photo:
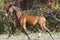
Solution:
<path fill-rule="evenodd" d="M 43 33 L 40 38 L 38 38 L 38 33 L 32 33 L 29 34 L 31 40 L 52 40 L 52 38 L 49 36 L 49 34 L 47 33 Z M 54 40 L 60 40 L 60 34 L 56 33 L 56 34 L 52 34 Z M 9 39 L 7 39 L 7 35 L 0 35 L 0 40 L 28 40 L 26 35 L 12 35 Z"/>

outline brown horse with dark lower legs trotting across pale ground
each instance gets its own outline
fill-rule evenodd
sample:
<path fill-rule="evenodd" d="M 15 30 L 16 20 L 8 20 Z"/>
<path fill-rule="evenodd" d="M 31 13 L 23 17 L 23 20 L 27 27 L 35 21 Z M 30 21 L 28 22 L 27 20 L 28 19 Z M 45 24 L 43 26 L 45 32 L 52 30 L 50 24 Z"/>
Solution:
<path fill-rule="evenodd" d="M 28 39 L 30 40 L 30 37 L 27 33 L 27 29 L 26 29 L 26 25 L 29 24 L 31 26 L 34 25 L 39 25 L 39 28 L 41 28 L 42 30 L 46 30 L 49 35 L 50 31 L 49 29 L 45 26 L 46 25 L 46 18 L 44 16 L 32 16 L 32 15 L 27 15 L 27 14 L 23 14 L 22 11 L 18 10 L 17 7 L 15 6 L 11 6 L 8 10 L 9 13 L 13 13 L 16 17 L 16 22 L 21 26 L 21 28 L 24 30 L 25 34 L 27 35 Z M 7 13 L 8 15 L 8 13 Z M 19 28 L 20 28 L 19 26 Z M 40 33 L 39 33 L 40 35 Z M 52 36 L 51 36 L 52 37 Z M 52 37 L 53 39 L 53 37 Z"/>

